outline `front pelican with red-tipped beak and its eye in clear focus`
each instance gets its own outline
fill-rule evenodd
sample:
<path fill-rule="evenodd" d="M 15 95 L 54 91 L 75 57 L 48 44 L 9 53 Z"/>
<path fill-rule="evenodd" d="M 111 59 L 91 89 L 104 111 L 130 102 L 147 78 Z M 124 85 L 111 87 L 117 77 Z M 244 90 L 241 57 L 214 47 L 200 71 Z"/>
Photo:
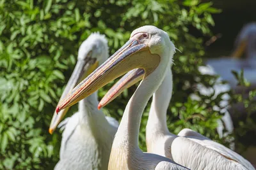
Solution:
<path fill-rule="evenodd" d="M 154 153 L 143 153 L 138 146 L 141 115 L 163 81 L 172 63 L 175 46 L 168 34 L 154 26 L 134 30 L 120 50 L 98 67 L 61 101 L 58 110 L 77 103 L 111 80 L 135 68 L 143 68 L 145 77 L 129 100 L 113 141 L 109 170 L 187 169 Z"/>

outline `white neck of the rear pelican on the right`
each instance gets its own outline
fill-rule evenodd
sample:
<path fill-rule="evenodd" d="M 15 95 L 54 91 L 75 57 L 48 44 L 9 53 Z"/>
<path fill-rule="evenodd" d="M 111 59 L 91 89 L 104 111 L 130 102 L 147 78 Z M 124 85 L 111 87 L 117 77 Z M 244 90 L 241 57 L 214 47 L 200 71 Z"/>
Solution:
<path fill-rule="evenodd" d="M 153 95 L 150 112 L 148 115 L 146 133 L 169 133 L 166 125 L 166 111 L 168 110 L 170 99 L 172 98 L 172 87 L 172 71 L 169 68 L 167 69 L 167 73 L 162 84 Z"/>

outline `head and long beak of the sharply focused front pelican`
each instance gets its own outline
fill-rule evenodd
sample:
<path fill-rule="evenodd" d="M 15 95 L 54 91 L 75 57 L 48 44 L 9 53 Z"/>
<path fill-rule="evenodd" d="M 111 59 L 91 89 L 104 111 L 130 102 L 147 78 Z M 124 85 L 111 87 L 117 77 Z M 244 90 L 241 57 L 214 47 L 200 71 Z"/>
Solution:
<path fill-rule="evenodd" d="M 115 80 L 132 69 L 144 69 L 144 78 L 156 69 L 165 71 L 167 64 L 172 62 L 174 52 L 175 46 L 166 32 L 151 25 L 140 27 L 132 32 L 129 41 L 124 46 L 81 81 L 58 104 L 57 110 L 60 111 L 76 104 L 109 81 Z M 165 73 L 164 71 L 162 73 Z"/>

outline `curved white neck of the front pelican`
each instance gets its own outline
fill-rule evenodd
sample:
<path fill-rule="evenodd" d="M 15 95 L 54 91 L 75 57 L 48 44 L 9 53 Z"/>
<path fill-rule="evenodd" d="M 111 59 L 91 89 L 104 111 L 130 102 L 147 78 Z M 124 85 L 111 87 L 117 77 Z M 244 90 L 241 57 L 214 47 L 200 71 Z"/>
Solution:
<path fill-rule="evenodd" d="M 170 57 L 161 57 L 157 68 L 141 81 L 125 108 L 113 146 L 126 146 L 128 150 L 139 149 L 138 137 L 143 110 L 150 97 L 161 85 L 170 62 Z"/>

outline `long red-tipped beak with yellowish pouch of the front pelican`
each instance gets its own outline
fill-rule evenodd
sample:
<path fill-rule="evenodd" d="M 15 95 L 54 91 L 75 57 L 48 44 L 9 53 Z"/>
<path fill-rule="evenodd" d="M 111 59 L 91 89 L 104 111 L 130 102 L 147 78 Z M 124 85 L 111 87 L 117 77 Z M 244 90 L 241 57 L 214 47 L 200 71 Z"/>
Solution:
<path fill-rule="evenodd" d="M 63 110 L 76 104 L 84 97 L 100 89 L 109 81 L 115 80 L 122 74 L 136 68 L 143 68 L 146 76 L 150 74 L 160 62 L 157 54 L 150 53 L 147 43 L 140 43 L 138 39 L 130 38 L 122 48 L 115 52 L 108 60 L 99 66 L 92 74 L 77 85 L 70 94 L 61 101 L 56 111 Z"/>

